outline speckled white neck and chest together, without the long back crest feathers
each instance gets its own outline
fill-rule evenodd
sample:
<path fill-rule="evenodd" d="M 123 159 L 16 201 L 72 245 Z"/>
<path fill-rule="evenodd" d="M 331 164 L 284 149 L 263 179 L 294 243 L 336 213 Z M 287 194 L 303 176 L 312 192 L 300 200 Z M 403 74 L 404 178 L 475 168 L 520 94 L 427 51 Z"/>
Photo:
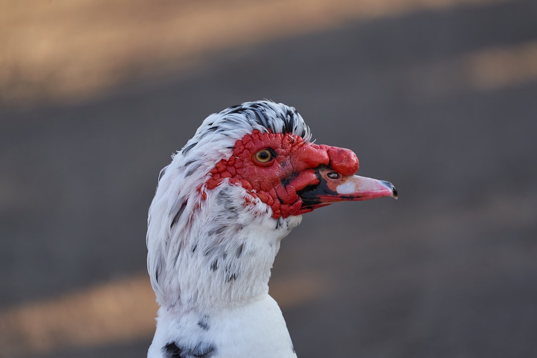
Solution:
<path fill-rule="evenodd" d="M 296 357 L 268 283 L 281 239 L 302 217 L 274 219 L 263 203 L 245 206 L 243 191 L 214 189 L 188 224 L 172 228 L 148 357 L 175 356 L 168 345 L 186 356 Z"/>

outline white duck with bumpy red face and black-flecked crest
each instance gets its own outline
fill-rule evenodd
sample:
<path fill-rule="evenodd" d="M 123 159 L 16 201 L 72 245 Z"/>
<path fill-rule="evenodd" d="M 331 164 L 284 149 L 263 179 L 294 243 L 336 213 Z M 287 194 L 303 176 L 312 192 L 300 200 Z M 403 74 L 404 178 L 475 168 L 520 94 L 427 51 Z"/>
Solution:
<path fill-rule="evenodd" d="M 302 214 L 397 199 L 358 168 L 353 151 L 311 141 L 294 107 L 258 100 L 209 115 L 162 169 L 149 207 L 159 309 L 148 358 L 296 357 L 269 295 L 274 258 Z"/>

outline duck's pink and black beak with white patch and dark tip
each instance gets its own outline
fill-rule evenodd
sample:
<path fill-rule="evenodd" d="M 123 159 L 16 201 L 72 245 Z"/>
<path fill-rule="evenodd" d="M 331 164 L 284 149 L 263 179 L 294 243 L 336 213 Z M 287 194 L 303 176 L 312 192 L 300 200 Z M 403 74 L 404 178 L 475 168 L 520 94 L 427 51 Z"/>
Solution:
<path fill-rule="evenodd" d="M 323 166 L 316 169 L 319 184 L 298 194 L 302 208 L 314 209 L 338 201 L 358 201 L 390 196 L 397 199 L 395 186 L 388 181 L 342 174 Z"/>

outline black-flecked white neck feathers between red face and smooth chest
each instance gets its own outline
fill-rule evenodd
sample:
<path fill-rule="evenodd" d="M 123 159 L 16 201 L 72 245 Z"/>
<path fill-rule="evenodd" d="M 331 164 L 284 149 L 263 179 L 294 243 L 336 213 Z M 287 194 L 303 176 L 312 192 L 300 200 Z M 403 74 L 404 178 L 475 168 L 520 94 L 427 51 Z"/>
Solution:
<path fill-rule="evenodd" d="M 301 216 L 274 219 L 263 203 L 245 206 L 244 195 L 243 188 L 224 184 L 194 211 L 185 206 L 187 218 L 172 223 L 164 240 L 159 304 L 208 312 L 268 293 L 280 240 Z"/>

